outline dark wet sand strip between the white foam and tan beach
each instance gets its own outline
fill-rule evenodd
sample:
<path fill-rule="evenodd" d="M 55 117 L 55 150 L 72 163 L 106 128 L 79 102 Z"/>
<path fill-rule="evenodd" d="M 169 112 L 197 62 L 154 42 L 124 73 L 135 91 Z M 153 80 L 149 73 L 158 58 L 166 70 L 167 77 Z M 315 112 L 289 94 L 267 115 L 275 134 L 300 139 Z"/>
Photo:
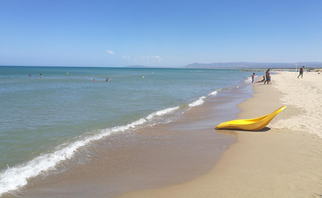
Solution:
<path fill-rule="evenodd" d="M 214 130 L 236 118 L 249 85 L 220 91 L 177 121 L 138 128 L 92 142 L 56 170 L 29 179 L 4 197 L 114 197 L 133 190 L 181 184 L 207 174 L 236 141 Z"/>

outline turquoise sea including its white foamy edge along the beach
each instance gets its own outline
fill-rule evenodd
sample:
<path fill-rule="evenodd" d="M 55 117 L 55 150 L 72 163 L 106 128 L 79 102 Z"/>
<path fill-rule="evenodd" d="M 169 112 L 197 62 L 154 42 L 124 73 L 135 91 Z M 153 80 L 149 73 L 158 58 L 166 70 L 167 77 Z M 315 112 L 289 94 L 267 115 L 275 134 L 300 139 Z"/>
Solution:
<path fill-rule="evenodd" d="M 180 118 L 221 89 L 250 83 L 251 74 L 229 69 L 0 66 L 0 194 L 71 158 L 92 140 Z"/>

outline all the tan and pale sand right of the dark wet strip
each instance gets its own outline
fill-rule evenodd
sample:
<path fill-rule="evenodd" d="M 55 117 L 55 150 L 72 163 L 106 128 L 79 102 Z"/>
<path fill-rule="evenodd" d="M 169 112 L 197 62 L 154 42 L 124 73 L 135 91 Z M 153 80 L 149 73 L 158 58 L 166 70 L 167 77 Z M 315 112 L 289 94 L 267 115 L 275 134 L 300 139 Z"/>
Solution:
<path fill-rule="evenodd" d="M 260 132 L 235 131 L 237 142 L 202 176 L 183 184 L 118 197 L 322 197 L 322 74 L 272 76 L 254 83 L 239 118 L 259 117 L 287 105 Z M 217 130 L 228 133 L 228 130 Z"/>

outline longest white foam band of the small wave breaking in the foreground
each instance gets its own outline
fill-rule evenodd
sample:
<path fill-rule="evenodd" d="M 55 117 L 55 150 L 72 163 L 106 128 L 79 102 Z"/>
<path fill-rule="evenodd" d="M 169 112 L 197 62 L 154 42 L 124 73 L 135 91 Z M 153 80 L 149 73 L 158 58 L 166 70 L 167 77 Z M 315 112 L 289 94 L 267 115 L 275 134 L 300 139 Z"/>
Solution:
<path fill-rule="evenodd" d="M 128 125 L 103 129 L 96 135 L 86 137 L 83 140 L 78 140 L 53 153 L 38 156 L 23 166 L 8 168 L 0 173 L 0 196 L 2 193 L 15 190 L 20 186 L 26 185 L 28 178 L 35 177 L 43 171 L 53 169 L 58 162 L 71 158 L 78 148 L 85 146 L 92 140 L 98 140 L 113 132 L 135 128 L 137 125 L 141 125 L 155 116 L 164 115 L 177 109 L 179 109 L 179 106 L 162 109 Z"/>

